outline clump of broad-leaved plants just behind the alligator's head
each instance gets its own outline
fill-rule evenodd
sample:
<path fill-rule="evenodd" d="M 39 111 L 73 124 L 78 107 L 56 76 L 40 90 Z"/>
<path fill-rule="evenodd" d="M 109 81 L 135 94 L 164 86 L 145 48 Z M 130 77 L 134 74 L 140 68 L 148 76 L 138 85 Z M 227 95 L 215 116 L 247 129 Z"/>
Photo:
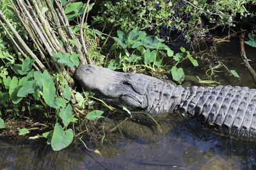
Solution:
<path fill-rule="evenodd" d="M 154 69 L 154 66 L 163 66 L 162 61 L 166 57 L 166 52 L 168 57 L 173 56 L 173 51 L 164 45 L 163 39 L 159 39 L 157 36 L 148 36 L 145 31 L 139 31 L 138 27 L 132 31 L 117 31 L 117 34 L 118 38 L 115 37 L 115 40 L 118 43 L 113 44 L 111 50 L 115 50 L 118 57 L 111 60 L 108 65 L 109 69 L 127 67 L 130 63 L 152 64 L 152 69 Z M 131 52 L 132 55 L 130 56 L 128 52 Z"/>

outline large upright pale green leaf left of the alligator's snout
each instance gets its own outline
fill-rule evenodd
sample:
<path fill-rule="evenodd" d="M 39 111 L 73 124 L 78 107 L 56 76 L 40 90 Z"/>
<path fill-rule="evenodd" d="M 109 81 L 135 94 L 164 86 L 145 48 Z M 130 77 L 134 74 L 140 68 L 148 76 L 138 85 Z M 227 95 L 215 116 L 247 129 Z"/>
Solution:
<path fill-rule="evenodd" d="M 43 80 L 42 83 L 43 83 L 44 101 L 49 106 L 52 106 L 52 101 L 54 100 L 55 95 L 56 95 L 56 89 L 54 87 L 54 82 L 53 82 L 53 80 L 51 80 L 50 82 Z"/>

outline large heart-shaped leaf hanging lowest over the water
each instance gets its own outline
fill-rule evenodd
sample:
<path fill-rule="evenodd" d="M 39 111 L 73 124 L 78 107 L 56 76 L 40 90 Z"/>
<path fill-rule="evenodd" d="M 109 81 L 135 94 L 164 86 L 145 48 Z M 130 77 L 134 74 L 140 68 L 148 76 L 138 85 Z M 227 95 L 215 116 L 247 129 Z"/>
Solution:
<path fill-rule="evenodd" d="M 59 123 L 56 123 L 54 126 L 51 140 L 52 150 L 58 151 L 66 148 L 68 145 L 70 145 L 70 143 L 72 143 L 73 137 L 74 133 L 72 129 L 63 131 L 61 125 Z"/>

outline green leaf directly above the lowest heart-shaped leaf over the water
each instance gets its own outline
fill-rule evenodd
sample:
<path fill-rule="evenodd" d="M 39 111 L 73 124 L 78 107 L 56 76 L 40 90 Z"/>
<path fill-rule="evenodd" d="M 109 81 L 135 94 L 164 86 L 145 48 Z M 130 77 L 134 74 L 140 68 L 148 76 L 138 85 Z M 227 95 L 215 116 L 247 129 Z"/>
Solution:
<path fill-rule="evenodd" d="M 68 104 L 66 108 L 60 110 L 60 118 L 66 127 L 70 122 L 76 122 L 77 118 L 72 116 L 72 106 L 70 104 Z"/>

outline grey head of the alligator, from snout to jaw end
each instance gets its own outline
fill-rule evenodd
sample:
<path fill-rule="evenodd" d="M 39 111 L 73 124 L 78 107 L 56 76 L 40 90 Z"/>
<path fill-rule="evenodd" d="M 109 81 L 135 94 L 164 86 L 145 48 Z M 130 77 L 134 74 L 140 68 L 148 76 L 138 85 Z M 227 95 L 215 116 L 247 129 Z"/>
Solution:
<path fill-rule="evenodd" d="M 76 70 L 76 79 L 84 89 L 92 90 L 95 96 L 109 104 L 124 105 L 132 110 L 145 110 L 148 106 L 147 87 L 150 81 L 156 78 L 136 73 L 120 73 L 94 65 L 83 65 Z"/>

